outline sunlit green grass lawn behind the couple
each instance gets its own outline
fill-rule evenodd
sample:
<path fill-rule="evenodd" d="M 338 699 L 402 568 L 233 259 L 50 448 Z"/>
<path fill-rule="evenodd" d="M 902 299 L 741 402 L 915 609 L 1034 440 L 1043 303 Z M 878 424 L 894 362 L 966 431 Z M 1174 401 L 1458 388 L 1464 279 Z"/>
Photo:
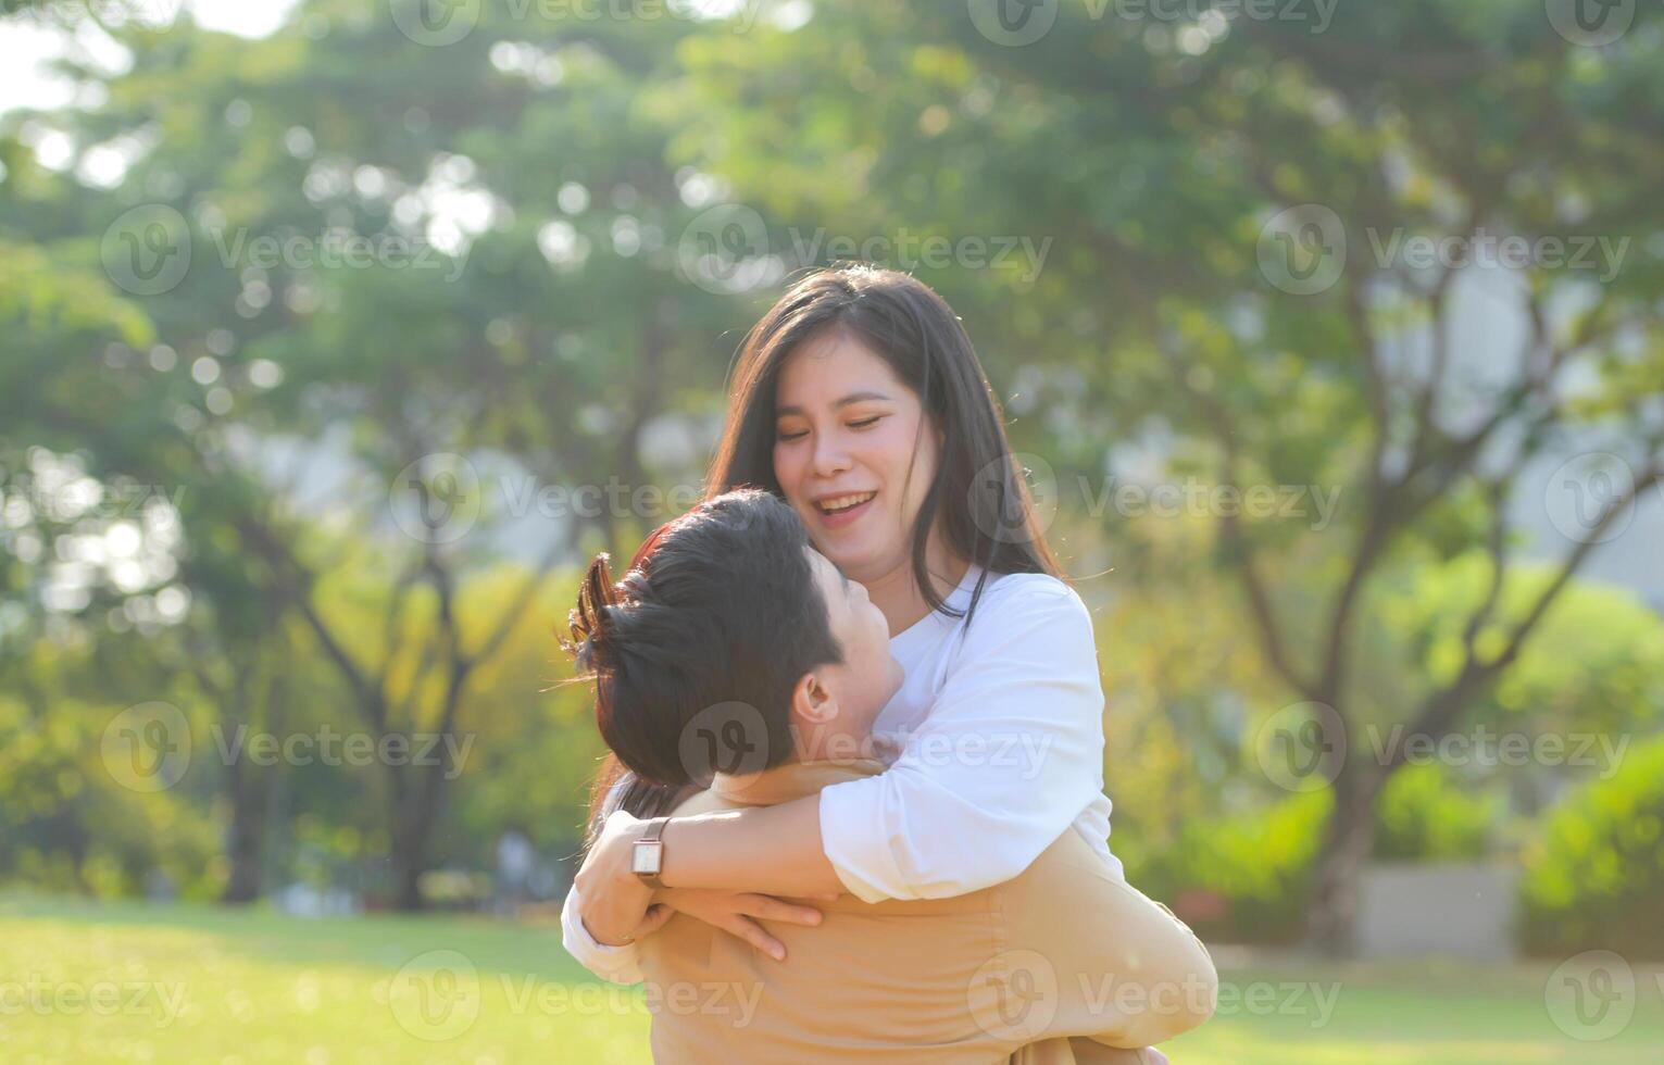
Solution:
<path fill-rule="evenodd" d="M 1220 960 L 1176 1063 L 1664 1060 L 1659 968 L 1636 967 L 1621 1033 L 1577 1042 L 1553 965 Z M 584 977 L 546 925 L 0 897 L 0 1062 L 647 1062 L 639 995 Z"/>

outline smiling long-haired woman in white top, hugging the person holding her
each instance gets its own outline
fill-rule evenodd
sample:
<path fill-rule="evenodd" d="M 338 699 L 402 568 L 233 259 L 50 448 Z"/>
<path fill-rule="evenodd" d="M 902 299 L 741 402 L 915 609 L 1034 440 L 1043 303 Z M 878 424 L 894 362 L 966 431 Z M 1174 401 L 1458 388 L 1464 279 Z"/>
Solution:
<path fill-rule="evenodd" d="M 667 802 L 697 774 L 604 774 L 567 949 L 634 978 L 631 944 L 662 922 L 649 907 L 664 885 L 702 889 L 677 909 L 784 958 L 757 919 L 807 919 L 772 897 L 960 895 L 1015 877 L 1068 830 L 1120 875 L 1092 617 L 1043 541 L 948 305 L 867 266 L 794 285 L 745 338 L 707 496 L 740 484 L 784 498 L 882 611 L 905 667 L 877 722 L 894 762 L 814 797 L 676 817 L 649 840 L 654 820 L 629 812 L 659 809 L 639 805 L 641 789 Z"/>

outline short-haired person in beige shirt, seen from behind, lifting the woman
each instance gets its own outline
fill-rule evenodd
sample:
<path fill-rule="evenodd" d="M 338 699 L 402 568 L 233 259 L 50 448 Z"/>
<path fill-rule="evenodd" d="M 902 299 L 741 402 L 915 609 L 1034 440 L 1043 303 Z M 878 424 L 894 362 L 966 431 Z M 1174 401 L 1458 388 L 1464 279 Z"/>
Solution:
<path fill-rule="evenodd" d="M 617 582 L 599 556 L 569 627 L 624 767 L 597 814 L 769 807 L 885 769 L 872 726 L 904 674 L 884 614 L 765 491 L 667 523 Z M 1137 1062 L 1213 1008 L 1201 944 L 1073 832 L 950 899 L 760 900 L 802 922 L 777 930 L 785 963 L 676 912 L 692 894 L 664 889 L 637 945 L 661 1063 Z"/>

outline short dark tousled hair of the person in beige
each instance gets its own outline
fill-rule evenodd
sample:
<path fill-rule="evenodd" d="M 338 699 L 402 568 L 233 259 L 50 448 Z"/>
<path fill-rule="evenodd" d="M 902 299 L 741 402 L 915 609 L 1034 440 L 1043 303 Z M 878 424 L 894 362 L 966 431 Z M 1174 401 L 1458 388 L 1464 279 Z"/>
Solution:
<path fill-rule="evenodd" d="M 562 641 L 596 684 L 596 726 L 617 759 L 596 809 L 622 769 L 624 809 L 649 815 L 735 760 L 790 757 L 794 686 L 842 661 L 807 547 L 789 504 L 742 488 L 661 526 L 617 582 L 596 556 Z"/>

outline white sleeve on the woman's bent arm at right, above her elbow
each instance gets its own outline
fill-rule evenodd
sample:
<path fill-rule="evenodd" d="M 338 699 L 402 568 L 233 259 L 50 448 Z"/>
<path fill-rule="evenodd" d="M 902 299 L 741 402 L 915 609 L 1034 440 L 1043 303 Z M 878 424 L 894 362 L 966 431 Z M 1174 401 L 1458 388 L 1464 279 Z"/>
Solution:
<path fill-rule="evenodd" d="M 1028 869 L 1102 792 L 1092 614 L 1067 584 L 1025 581 L 978 604 L 900 759 L 820 792 L 820 835 L 852 895 L 947 899 Z"/>

